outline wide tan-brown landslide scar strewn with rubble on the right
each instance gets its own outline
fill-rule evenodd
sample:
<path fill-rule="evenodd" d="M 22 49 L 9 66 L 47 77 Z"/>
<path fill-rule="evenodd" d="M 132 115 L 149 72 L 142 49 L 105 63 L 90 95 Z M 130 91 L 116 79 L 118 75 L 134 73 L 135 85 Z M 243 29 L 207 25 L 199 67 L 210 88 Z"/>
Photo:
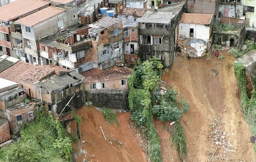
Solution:
<path fill-rule="evenodd" d="M 248 142 L 249 126 L 240 110 L 234 70 L 227 68 L 227 63 L 233 61 L 229 55 L 226 59 L 212 57 L 210 61 L 206 57 L 189 61 L 187 57 L 178 57 L 172 69 L 163 72 L 162 80 L 176 86 L 190 101 L 190 111 L 180 121 L 187 137 L 186 162 L 204 162 L 216 148 L 215 153 L 220 157 L 216 161 L 256 161 L 253 145 Z M 213 123 L 218 131 L 225 131 L 224 141 L 225 144 L 229 141 L 229 146 L 213 144 L 215 141 L 209 136 Z M 163 152 L 164 161 L 168 161 L 168 156 Z"/>

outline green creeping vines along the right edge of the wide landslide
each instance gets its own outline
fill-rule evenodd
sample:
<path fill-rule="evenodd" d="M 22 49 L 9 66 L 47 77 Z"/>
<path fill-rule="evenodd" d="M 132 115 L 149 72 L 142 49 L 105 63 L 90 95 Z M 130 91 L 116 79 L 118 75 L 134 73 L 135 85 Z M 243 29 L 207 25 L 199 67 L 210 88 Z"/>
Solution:
<path fill-rule="evenodd" d="M 250 131 L 252 135 L 256 134 L 256 91 L 255 86 L 252 90 L 251 98 L 247 96 L 246 88 L 246 77 L 244 75 L 244 64 L 234 62 L 234 72 L 237 78 L 237 84 L 240 90 L 240 105 L 244 113 L 244 119 L 248 122 L 250 126 Z M 253 85 L 255 85 L 255 80 L 252 80 Z M 254 144 L 254 150 L 256 151 L 256 144 Z"/>

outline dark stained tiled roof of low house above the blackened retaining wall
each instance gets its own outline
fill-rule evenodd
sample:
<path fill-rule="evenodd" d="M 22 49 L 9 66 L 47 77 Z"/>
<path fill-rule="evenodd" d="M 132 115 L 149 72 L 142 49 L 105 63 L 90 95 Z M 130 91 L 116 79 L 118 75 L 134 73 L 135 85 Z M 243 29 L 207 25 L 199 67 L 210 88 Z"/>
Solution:
<path fill-rule="evenodd" d="M 84 81 L 86 83 L 104 82 L 108 80 L 124 79 L 128 75 L 132 74 L 132 69 L 124 66 L 123 68 L 118 68 L 116 66 L 101 70 L 100 68 L 94 68 L 92 70 L 82 72 L 81 75 L 84 76 Z"/>

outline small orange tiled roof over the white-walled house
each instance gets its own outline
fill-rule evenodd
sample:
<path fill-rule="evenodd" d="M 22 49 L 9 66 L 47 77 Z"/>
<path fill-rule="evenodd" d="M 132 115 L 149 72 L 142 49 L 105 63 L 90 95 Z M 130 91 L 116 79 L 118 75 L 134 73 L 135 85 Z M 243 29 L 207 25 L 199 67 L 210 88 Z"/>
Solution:
<path fill-rule="evenodd" d="M 195 23 L 201 25 L 209 25 L 213 14 L 189 14 L 183 13 L 180 23 Z"/>

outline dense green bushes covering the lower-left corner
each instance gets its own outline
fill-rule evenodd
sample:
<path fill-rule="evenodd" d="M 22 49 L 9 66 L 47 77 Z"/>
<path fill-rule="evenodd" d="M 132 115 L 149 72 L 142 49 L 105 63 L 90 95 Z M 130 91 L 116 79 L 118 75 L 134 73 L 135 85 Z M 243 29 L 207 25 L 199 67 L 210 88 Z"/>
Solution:
<path fill-rule="evenodd" d="M 71 162 L 72 144 L 62 127 L 42 107 L 37 118 L 22 127 L 21 140 L 0 150 L 2 162 Z"/>

